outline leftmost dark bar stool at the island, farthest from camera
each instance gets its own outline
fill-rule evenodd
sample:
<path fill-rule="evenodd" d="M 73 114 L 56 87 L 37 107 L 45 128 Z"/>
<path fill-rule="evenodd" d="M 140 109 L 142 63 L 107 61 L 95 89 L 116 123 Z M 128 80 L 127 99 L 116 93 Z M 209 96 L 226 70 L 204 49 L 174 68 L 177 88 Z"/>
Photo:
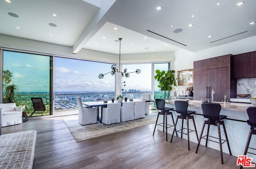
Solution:
<path fill-rule="evenodd" d="M 166 127 L 166 141 L 167 141 L 167 129 L 169 127 L 174 126 L 174 119 L 173 119 L 172 111 L 170 111 L 170 110 L 173 110 L 174 108 L 164 107 L 164 105 L 165 105 L 165 100 L 164 99 L 156 99 L 156 108 L 158 109 L 158 114 L 157 114 L 157 118 L 156 118 L 156 125 L 163 126 L 163 132 L 164 132 L 164 125 L 165 125 L 165 127 Z M 157 124 L 159 115 L 165 115 L 165 123 L 163 121 L 163 123 Z M 167 115 L 172 115 L 173 125 L 167 124 Z M 156 130 L 156 125 L 155 125 L 155 128 L 154 128 L 154 133 L 155 133 L 155 130 Z M 154 133 L 153 133 L 153 135 L 154 135 Z M 176 132 L 176 135 L 177 135 L 177 132 Z"/>

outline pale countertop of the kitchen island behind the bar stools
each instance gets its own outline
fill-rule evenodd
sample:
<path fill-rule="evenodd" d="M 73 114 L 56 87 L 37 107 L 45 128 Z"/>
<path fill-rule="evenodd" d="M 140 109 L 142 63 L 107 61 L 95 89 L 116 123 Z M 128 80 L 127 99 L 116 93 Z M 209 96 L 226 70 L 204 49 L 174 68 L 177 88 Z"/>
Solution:
<path fill-rule="evenodd" d="M 166 100 L 166 104 L 174 104 L 174 101 L 175 100 Z M 241 112 L 246 112 L 247 107 L 254 106 L 252 104 L 247 104 L 247 103 L 227 103 L 226 105 L 224 105 L 223 102 L 214 102 L 214 103 L 220 103 L 222 110 L 241 111 Z M 201 102 L 198 100 L 190 100 L 188 104 L 189 106 L 192 106 L 192 107 L 201 107 Z"/>

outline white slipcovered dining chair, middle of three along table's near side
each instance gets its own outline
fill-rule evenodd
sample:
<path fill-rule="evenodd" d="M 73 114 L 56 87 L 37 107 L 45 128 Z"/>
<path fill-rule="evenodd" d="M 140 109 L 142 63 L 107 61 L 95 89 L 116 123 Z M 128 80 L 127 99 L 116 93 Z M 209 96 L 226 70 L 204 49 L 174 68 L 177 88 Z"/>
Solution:
<path fill-rule="evenodd" d="M 121 122 L 134 120 L 134 102 L 123 102 L 120 113 Z"/>

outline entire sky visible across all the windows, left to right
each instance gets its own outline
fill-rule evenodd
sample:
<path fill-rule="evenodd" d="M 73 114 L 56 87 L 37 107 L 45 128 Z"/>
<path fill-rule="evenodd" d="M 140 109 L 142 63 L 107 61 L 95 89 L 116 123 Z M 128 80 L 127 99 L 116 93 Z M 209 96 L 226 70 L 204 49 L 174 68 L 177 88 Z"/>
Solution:
<path fill-rule="evenodd" d="M 112 64 L 54 57 L 54 91 L 114 91 L 115 76 L 111 72 Z M 131 73 L 129 78 L 123 78 L 126 86 L 124 91 L 136 89 L 151 91 L 151 64 L 124 64 L 123 69 Z M 155 64 L 162 69 L 162 64 Z M 18 85 L 20 91 L 49 92 L 50 86 L 50 57 L 35 54 L 4 51 L 3 70 L 12 72 L 12 83 Z M 99 74 L 106 74 L 99 79 Z M 155 88 L 159 90 L 156 86 Z"/>

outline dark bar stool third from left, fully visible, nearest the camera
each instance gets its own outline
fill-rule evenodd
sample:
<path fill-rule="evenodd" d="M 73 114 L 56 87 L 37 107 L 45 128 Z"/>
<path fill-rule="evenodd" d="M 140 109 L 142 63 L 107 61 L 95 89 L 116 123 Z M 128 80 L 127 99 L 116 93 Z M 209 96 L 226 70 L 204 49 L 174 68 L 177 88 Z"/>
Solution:
<path fill-rule="evenodd" d="M 219 138 L 217 138 L 217 137 L 212 137 L 212 138 L 219 139 L 219 142 L 216 142 L 216 141 L 214 141 L 214 142 L 220 144 L 220 157 L 221 157 L 221 163 L 223 164 L 222 144 L 225 141 L 227 141 L 227 144 L 228 144 L 229 154 L 232 155 L 231 154 L 231 150 L 230 150 L 230 146 L 229 146 L 229 143 L 228 143 L 228 136 L 227 136 L 227 132 L 226 132 L 226 127 L 225 127 L 225 124 L 224 124 L 224 121 L 223 121 L 223 119 L 226 119 L 227 116 L 226 115 L 220 115 L 220 109 L 221 109 L 221 105 L 220 104 L 217 104 L 217 103 L 202 103 L 201 107 L 202 107 L 202 110 L 203 110 L 204 117 L 208 118 L 208 119 L 204 120 L 204 124 L 203 124 L 202 131 L 201 131 L 201 134 L 200 134 L 200 139 L 199 139 L 197 147 L 196 147 L 196 153 L 198 151 L 201 139 L 206 139 L 206 143 L 205 143 L 206 147 L 207 147 L 208 140 L 209 141 L 213 141 L 213 140 L 208 139 L 209 137 L 212 137 L 212 136 L 209 136 L 210 125 L 218 126 Z M 206 138 L 202 137 L 202 134 L 204 132 L 205 124 L 208 124 L 207 134 L 204 136 Z M 225 133 L 225 136 L 226 136 L 226 140 L 221 139 L 220 125 L 223 126 L 224 133 Z"/>

